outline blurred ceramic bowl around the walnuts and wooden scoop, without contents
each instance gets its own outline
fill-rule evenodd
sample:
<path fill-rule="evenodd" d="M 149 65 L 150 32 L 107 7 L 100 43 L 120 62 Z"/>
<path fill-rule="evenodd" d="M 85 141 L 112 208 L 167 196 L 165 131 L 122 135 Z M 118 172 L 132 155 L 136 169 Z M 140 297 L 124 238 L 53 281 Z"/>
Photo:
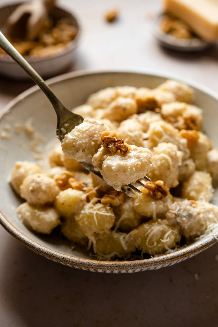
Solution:
<path fill-rule="evenodd" d="M 8 16 L 18 5 L 19 4 L 0 8 L 0 30 L 2 30 L 3 33 Z M 54 7 L 49 15 L 53 20 L 68 18 L 71 25 L 77 28 L 78 33 L 73 41 L 64 46 L 62 51 L 56 54 L 46 57 L 25 56 L 25 59 L 43 78 L 57 76 L 65 72 L 66 69 L 75 61 L 76 48 L 80 39 L 81 30 L 76 17 L 64 9 Z M 0 54 L 0 74 L 13 79 L 30 79 L 25 71 L 12 58 L 4 54 Z"/>

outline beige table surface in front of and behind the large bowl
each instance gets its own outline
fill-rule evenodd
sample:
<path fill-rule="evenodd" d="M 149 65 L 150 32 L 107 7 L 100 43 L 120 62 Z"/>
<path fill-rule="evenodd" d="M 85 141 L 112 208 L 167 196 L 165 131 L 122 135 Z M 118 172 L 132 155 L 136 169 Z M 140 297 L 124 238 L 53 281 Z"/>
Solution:
<path fill-rule="evenodd" d="M 0 5 L 9 1 L 1 0 Z M 82 25 L 70 70 L 142 69 L 177 74 L 218 92 L 218 47 L 198 54 L 163 50 L 153 38 L 155 0 L 59 0 Z M 120 19 L 104 22 L 107 9 Z M 32 82 L 0 77 L 0 110 Z M 97 274 L 35 254 L 0 226 L 0 326 L 218 326 L 218 244 L 172 267 Z"/>

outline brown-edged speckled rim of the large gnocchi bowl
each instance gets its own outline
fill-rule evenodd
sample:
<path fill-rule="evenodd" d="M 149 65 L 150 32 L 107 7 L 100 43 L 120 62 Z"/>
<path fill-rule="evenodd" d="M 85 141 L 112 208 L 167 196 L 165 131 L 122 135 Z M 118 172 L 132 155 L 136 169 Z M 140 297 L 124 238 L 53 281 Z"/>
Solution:
<path fill-rule="evenodd" d="M 74 77 L 81 77 L 86 75 L 97 75 L 97 74 L 105 74 L 108 73 L 112 74 L 145 74 L 150 75 L 153 77 L 161 77 L 161 78 L 170 78 L 175 79 L 181 82 L 184 82 L 191 87 L 194 87 L 196 89 L 199 89 L 200 91 L 203 91 L 207 94 L 209 94 L 211 97 L 215 98 L 218 102 L 218 95 L 196 83 L 193 81 L 190 81 L 186 78 L 179 77 L 176 75 L 169 75 L 164 73 L 159 73 L 155 71 L 142 71 L 142 70 L 83 70 L 83 71 L 77 71 L 77 72 L 70 72 L 67 74 L 63 74 L 57 77 L 50 78 L 47 80 L 47 83 L 49 85 L 52 85 L 53 83 L 61 82 L 63 80 L 71 79 Z M 8 103 L 8 105 L 2 110 L 0 113 L 0 119 L 3 117 L 4 114 L 10 111 L 11 107 L 13 107 L 15 104 L 20 102 L 22 99 L 24 99 L 27 95 L 30 95 L 38 90 L 38 86 L 33 86 L 30 89 L 26 90 L 22 94 L 18 95 L 16 98 L 14 98 L 12 101 Z M 24 235 L 22 232 L 20 232 L 17 228 L 15 228 L 7 217 L 5 217 L 2 212 L 0 212 L 0 223 L 1 225 L 17 240 L 19 240 L 21 243 L 23 243 L 26 247 L 29 249 L 35 251 L 38 254 L 43 255 L 44 257 L 51 259 L 53 261 L 62 263 L 64 265 L 79 268 L 82 270 L 89 270 L 94 272 L 106 272 L 106 273 L 132 273 L 132 272 L 139 272 L 144 270 L 153 270 L 153 269 L 159 269 L 162 267 L 167 267 L 174 265 L 178 262 L 181 262 L 183 260 L 186 260 L 188 258 L 193 257 L 194 255 L 200 253 L 203 250 L 206 250 L 213 244 L 215 244 L 218 241 L 218 231 L 214 232 L 213 234 L 210 234 L 206 236 L 204 239 L 199 239 L 198 241 L 194 242 L 191 245 L 188 245 L 185 248 L 182 248 L 180 250 L 177 250 L 172 253 L 163 254 L 158 257 L 153 257 L 149 259 L 142 259 L 142 260 L 134 260 L 134 261 L 98 261 L 98 260 L 92 260 L 92 259 L 83 259 L 78 258 L 75 256 L 70 256 L 55 250 L 52 250 L 48 247 L 42 246 L 40 243 L 31 240 L 29 237 Z"/>

